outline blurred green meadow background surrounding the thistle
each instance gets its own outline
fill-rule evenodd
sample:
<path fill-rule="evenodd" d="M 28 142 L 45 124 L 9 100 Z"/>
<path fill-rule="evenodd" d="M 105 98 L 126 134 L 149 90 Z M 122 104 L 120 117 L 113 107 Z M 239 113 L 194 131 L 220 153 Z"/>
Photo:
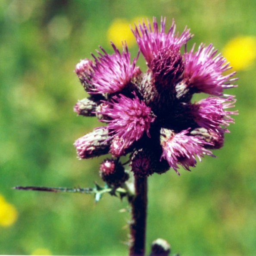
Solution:
<path fill-rule="evenodd" d="M 115 19 L 152 16 L 166 16 L 167 28 L 175 18 L 180 32 L 188 25 L 188 49 L 204 42 L 221 51 L 236 36 L 256 36 L 255 0 L 0 0 L 0 194 L 13 215 L 0 225 L 0 254 L 127 255 L 125 200 L 105 195 L 95 205 L 91 195 L 11 187 L 100 182 L 103 158 L 78 160 L 72 145 L 99 125 L 73 112 L 86 97 L 73 70 L 98 45 L 111 52 Z M 226 91 L 237 95 L 239 116 L 217 158 L 149 178 L 148 253 L 161 237 L 181 256 L 256 255 L 255 70 L 255 62 L 240 69 L 239 87 Z"/>

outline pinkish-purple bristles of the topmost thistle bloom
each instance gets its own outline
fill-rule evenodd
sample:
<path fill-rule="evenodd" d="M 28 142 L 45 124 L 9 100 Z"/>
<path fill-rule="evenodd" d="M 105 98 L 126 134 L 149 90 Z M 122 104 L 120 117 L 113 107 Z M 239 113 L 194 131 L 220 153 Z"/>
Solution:
<path fill-rule="evenodd" d="M 148 25 L 148 27 L 147 27 Z M 156 17 L 153 17 L 153 29 L 151 28 L 150 22 L 147 19 L 147 25 L 142 22 L 142 25 L 135 25 L 135 30 L 131 29 L 134 36 L 136 37 L 137 44 L 144 58 L 146 59 L 147 65 L 150 66 L 151 60 L 161 49 L 169 49 L 172 46 L 180 48 L 185 44 L 191 37 L 190 29 L 184 28 L 184 31 L 179 34 L 175 34 L 175 22 L 172 21 L 172 26 L 170 27 L 167 34 L 165 33 L 165 18 L 161 17 L 161 28 L 158 29 L 158 24 L 156 22 Z M 141 34 L 140 34 L 141 33 Z"/>

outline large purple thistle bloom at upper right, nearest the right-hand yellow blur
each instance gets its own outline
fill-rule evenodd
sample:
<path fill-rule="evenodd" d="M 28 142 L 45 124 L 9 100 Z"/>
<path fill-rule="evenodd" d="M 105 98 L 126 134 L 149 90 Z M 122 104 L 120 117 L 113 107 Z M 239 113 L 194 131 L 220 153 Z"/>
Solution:
<path fill-rule="evenodd" d="M 237 80 L 237 78 L 230 79 L 235 72 L 222 75 L 222 72 L 231 67 L 220 53 L 215 56 L 217 50 L 212 44 L 207 47 L 200 44 L 195 53 L 193 53 L 194 47 L 195 44 L 189 53 L 184 54 L 184 83 L 189 89 L 196 93 L 203 92 L 220 96 L 224 89 L 235 87 L 230 84 Z"/>

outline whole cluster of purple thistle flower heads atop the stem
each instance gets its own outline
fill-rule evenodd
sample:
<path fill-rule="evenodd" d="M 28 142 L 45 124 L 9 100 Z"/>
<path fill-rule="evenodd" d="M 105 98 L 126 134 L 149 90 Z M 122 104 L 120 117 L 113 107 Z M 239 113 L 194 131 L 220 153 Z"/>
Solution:
<path fill-rule="evenodd" d="M 146 72 L 136 66 L 139 54 L 131 60 L 126 44 L 122 53 L 114 44 L 112 54 L 100 47 L 98 57 L 92 54 L 94 61 L 83 59 L 76 66 L 90 97 L 78 101 L 75 112 L 97 116 L 107 124 L 75 141 L 78 156 L 111 153 L 119 159 L 130 154 L 131 171 L 137 176 L 169 168 L 179 174 L 179 166 L 190 170 L 197 158 L 213 156 L 210 150 L 223 146 L 227 126 L 234 122 L 230 115 L 237 114 L 226 110 L 235 100 L 223 90 L 236 86 L 232 84 L 236 78 L 231 78 L 235 72 L 227 72 L 231 67 L 212 44 L 187 51 L 193 35 L 187 27 L 180 35 L 175 33 L 174 21 L 167 33 L 162 18 L 160 28 L 153 18 L 153 27 L 142 22 L 132 32 L 146 60 Z M 196 93 L 209 97 L 193 103 Z M 101 166 L 106 170 L 112 162 L 107 176 L 115 172 L 113 164 L 118 165 L 113 159 L 106 161 L 106 168 Z"/>

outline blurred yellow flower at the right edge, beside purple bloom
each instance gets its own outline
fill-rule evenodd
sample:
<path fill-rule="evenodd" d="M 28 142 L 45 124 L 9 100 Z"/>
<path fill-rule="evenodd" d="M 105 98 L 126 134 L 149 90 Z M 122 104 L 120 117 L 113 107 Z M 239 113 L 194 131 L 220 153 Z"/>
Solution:
<path fill-rule="evenodd" d="M 247 69 L 256 59 L 256 37 L 234 37 L 225 45 L 222 54 L 234 70 Z"/>

